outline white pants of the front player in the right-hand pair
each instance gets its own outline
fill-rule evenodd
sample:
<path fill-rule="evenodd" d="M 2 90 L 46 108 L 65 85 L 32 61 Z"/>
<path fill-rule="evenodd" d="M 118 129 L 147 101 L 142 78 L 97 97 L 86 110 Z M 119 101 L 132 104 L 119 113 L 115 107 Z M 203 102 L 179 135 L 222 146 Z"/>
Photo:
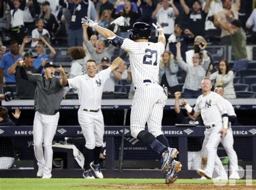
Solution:
<path fill-rule="evenodd" d="M 205 171 L 212 176 L 214 166 L 218 174 L 225 174 L 225 168 L 223 167 L 220 158 L 217 155 L 217 148 L 222 138 L 219 130 L 222 128 L 222 123 L 217 123 L 211 129 L 205 130 L 205 140 L 202 147 L 202 154 L 207 152 L 207 165 Z"/>

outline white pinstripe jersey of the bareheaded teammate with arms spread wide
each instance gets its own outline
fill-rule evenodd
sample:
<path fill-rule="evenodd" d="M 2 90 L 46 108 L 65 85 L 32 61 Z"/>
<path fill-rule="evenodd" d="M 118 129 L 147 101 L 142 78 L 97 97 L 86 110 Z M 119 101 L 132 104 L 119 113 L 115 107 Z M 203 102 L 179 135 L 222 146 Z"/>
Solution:
<path fill-rule="evenodd" d="M 69 88 L 77 89 L 80 109 L 100 109 L 104 83 L 109 79 L 110 73 L 111 67 L 99 72 L 94 78 L 86 74 L 68 79 Z"/>

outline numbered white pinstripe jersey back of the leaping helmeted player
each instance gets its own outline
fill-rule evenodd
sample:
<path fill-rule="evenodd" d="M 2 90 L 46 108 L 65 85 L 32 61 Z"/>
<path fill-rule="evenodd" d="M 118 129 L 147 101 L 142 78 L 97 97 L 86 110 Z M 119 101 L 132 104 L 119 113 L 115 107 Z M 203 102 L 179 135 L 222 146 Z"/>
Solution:
<path fill-rule="evenodd" d="M 163 43 L 135 42 L 125 38 L 121 48 L 129 53 L 136 88 L 142 87 L 144 80 L 158 82 L 160 57 L 165 50 Z"/>

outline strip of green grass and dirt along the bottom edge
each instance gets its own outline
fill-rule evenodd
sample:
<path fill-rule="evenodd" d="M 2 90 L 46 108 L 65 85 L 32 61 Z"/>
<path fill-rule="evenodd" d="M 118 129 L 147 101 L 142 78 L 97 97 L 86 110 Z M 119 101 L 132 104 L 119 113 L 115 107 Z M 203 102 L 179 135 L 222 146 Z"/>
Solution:
<path fill-rule="evenodd" d="M 233 180 L 235 185 L 216 186 L 213 180 L 178 179 L 165 185 L 164 179 L 77 179 L 77 178 L 0 178 L 1 190 L 71 190 L 71 189 L 256 189 L 256 180 Z"/>

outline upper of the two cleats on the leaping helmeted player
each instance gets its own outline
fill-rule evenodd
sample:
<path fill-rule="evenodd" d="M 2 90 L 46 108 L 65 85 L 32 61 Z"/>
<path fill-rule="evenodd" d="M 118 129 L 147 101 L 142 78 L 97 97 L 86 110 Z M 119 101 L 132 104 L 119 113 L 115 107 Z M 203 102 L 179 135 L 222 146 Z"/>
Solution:
<path fill-rule="evenodd" d="M 177 149 L 172 149 L 169 147 L 168 150 L 162 154 L 163 164 L 161 166 L 161 172 L 167 172 L 169 170 L 172 160 L 177 157 L 178 153 L 179 151 Z"/>

